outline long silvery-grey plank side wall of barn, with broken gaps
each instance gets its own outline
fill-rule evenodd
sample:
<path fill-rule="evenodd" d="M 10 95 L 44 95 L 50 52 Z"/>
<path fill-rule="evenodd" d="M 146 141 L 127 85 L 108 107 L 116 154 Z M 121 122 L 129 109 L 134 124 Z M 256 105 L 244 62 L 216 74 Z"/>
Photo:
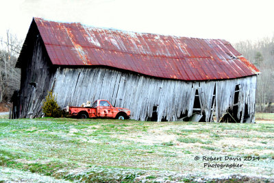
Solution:
<path fill-rule="evenodd" d="M 206 121 L 212 121 L 212 99 L 216 88 L 216 121 L 234 105 L 234 91 L 240 84 L 237 117 L 240 122 L 253 123 L 255 113 L 256 76 L 235 80 L 183 82 L 160 80 L 135 73 L 105 68 L 59 68 L 52 84 L 58 103 L 80 106 L 96 99 L 108 99 L 112 105 L 132 110 L 131 119 L 145 121 L 157 106 L 158 121 L 176 121 L 182 114 L 192 115 L 195 91 L 199 91 L 201 110 Z M 245 105 L 247 104 L 247 105 Z M 249 119 L 243 119 L 245 106 Z"/>

